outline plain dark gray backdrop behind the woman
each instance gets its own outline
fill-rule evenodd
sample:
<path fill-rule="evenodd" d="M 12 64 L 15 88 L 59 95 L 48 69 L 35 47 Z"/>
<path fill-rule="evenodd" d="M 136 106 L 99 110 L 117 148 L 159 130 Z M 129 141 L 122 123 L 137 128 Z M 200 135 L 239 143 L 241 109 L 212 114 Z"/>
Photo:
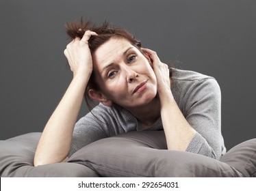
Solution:
<path fill-rule="evenodd" d="M 64 24 L 81 16 L 110 20 L 163 62 L 214 76 L 227 148 L 256 137 L 256 1 L 1 0 L 0 139 L 43 130 L 72 78 Z"/>

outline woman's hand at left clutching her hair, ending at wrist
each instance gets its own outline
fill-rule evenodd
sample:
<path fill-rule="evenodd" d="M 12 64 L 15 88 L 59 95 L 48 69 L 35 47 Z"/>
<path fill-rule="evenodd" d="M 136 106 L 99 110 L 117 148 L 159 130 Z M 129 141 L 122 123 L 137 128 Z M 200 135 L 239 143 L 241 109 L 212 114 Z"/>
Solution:
<path fill-rule="evenodd" d="M 88 46 L 88 40 L 92 35 L 97 35 L 97 33 L 86 31 L 83 38 L 75 38 L 64 50 L 64 55 L 68 59 L 68 64 L 74 76 L 92 74 L 92 55 Z"/>

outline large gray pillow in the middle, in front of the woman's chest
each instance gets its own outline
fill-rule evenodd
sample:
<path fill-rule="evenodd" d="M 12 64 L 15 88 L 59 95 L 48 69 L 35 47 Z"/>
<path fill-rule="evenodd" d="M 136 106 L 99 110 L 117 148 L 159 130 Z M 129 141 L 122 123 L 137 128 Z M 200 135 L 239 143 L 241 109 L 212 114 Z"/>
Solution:
<path fill-rule="evenodd" d="M 242 177 L 224 162 L 166 150 L 163 131 L 127 132 L 95 141 L 68 162 L 84 164 L 102 177 Z"/>

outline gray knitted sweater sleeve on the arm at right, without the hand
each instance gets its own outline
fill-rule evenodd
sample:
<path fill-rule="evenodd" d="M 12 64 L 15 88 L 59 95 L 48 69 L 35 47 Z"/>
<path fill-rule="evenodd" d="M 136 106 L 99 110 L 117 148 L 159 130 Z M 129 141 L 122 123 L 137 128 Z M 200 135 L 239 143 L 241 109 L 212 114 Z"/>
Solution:
<path fill-rule="evenodd" d="M 185 118 L 196 134 L 187 151 L 219 159 L 224 149 L 221 134 L 221 94 L 214 78 L 196 80 L 187 92 Z"/>

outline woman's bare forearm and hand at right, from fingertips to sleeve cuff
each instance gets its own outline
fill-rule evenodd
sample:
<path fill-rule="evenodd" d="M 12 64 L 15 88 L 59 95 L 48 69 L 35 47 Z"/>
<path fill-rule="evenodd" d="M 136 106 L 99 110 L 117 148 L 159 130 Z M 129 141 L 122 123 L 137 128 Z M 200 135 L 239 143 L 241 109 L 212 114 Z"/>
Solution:
<path fill-rule="evenodd" d="M 185 119 L 172 96 L 168 65 L 162 63 L 154 51 L 146 48 L 144 50 L 153 61 L 167 147 L 170 150 L 185 151 L 196 131 Z"/>

